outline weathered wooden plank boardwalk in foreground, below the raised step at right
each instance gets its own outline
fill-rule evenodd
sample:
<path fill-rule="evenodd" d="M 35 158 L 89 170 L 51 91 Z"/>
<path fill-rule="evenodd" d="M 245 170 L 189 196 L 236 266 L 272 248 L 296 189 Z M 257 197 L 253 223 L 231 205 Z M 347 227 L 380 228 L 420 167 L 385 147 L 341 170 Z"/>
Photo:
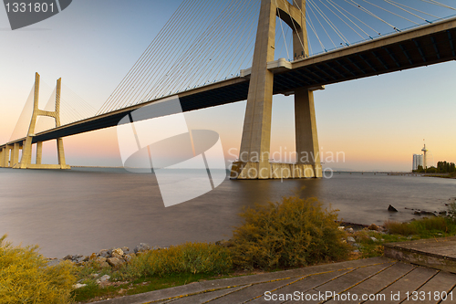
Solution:
<path fill-rule="evenodd" d="M 373 257 L 202 281 L 97 303 L 456 303 L 455 287 L 456 274 Z"/>

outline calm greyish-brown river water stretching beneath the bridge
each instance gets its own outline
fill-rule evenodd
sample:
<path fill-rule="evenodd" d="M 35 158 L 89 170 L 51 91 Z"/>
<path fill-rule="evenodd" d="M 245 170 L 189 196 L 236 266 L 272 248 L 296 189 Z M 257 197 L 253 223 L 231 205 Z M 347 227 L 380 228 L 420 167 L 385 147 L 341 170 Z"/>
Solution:
<path fill-rule="evenodd" d="M 165 208 L 152 174 L 122 169 L 22 171 L 0 169 L 0 235 L 15 244 L 39 244 L 47 257 L 88 255 L 140 242 L 168 246 L 229 238 L 239 212 L 277 201 L 306 186 L 340 210 L 347 222 L 382 224 L 414 217 L 408 208 L 445 210 L 456 180 L 341 173 L 331 179 L 230 181 L 192 201 Z M 399 213 L 390 214 L 388 205 Z"/>

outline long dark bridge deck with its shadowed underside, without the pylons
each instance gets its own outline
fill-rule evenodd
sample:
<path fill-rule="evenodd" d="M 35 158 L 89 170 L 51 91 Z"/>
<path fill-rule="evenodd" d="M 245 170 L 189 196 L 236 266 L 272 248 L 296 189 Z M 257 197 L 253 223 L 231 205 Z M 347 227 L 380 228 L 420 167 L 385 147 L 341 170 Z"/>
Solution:
<path fill-rule="evenodd" d="M 455 38 L 456 18 L 451 18 L 294 61 L 292 68 L 275 72 L 274 94 L 288 94 L 298 88 L 312 88 L 455 60 Z M 181 92 L 179 98 L 182 110 L 199 110 L 246 100 L 249 80 L 248 77 L 238 77 Z M 116 126 L 131 111 L 154 101 L 157 100 L 38 133 L 33 142 L 46 142 Z M 24 139 L 15 142 L 22 141 Z M 14 142 L 9 142 L 12 143 Z"/>

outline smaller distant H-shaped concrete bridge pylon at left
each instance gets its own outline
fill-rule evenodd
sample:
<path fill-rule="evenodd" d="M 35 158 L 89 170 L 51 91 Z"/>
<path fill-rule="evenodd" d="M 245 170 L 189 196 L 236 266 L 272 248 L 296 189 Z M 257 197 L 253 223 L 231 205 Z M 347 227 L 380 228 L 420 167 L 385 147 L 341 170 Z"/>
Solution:
<path fill-rule="evenodd" d="M 23 142 L 22 146 L 22 158 L 20 162 L 15 162 L 15 157 L 11 158 L 11 165 L 16 169 L 71 169 L 69 165 L 65 162 L 65 152 L 63 148 L 63 139 L 57 138 L 57 159 L 58 164 L 42 164 L 42 152 L 43 152 L 43 142 L 36 142 L 36 163 L 32 163 L 32 143 L 33 137 L 35 136 L 35 127 L 36 119 L 38 116 L 47 116 L 52 117 L 56 121 L 56 127 L 60 127 L 60 92 L 62 79 L 57 79 L 57 89 L 56 89 L 56 109 L 54 111 L 39 110 L 38 109 L 38 97 L 39 97 L 39 74 L 35 74 L 35 91 L 34 91 L 34 103 L 33 103 L 33 113 L 32 120 L 30 121 L 30 126 L 26 134 L 26 140 Z M 16 147 L 16 144 L 15 144 Z M 18 153 L 17 148 L 17 153 Z M 15 150 L 15 148 L 13 149 Z M 16 150 L 15 150 L 16 151 Z M 18 154 L 17 154 L 18 155 Z"/>

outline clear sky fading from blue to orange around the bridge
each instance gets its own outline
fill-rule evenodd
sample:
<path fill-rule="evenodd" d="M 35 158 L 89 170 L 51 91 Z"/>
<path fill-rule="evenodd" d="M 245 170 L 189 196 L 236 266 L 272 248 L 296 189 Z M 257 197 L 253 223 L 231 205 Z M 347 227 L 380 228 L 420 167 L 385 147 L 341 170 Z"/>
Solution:
<path fill-rule="evenodd" d="M 50 86 L 61 77 L 67 87 L 98 109 L 180 4 L 180 0 L 78 0 L 56 16 L 15 31 L 9 27 L 5 9 L 0 8 L 0 142 L 9 140 L 35 72 Z M 450 16 L 454 11 L 439 13 Z M 336 163 L 326 159 L 325 165 L 409 171 L 412 154 L 420 152 L 423 139 L 434 162 L 456 162 L 455 71 L 456 63 L 451 61 L 317 91 L 316 121 L 323 158 L 331 152 L 345 155 L 342 158 L 339 153 Z M 47 98 L 42 100 L 40 107 L 44 108 Z M 288 158 L 295 150 L 293 108 L 292 96 L 275 96 L 271 152 L 277 152 L 276 160 Z M 233 160 L 230 153 L 239 149 L 244 111 L 245 101 L 194 111 L 186 118 L 192 129 L 218 131 L 225 157 Z M 114 129 L 68 137 L 64 142 L 69 164 L 121 165 Z M 57 162 L 56 153 L 55 143 L 46 142 L 44 162 Z"/>

